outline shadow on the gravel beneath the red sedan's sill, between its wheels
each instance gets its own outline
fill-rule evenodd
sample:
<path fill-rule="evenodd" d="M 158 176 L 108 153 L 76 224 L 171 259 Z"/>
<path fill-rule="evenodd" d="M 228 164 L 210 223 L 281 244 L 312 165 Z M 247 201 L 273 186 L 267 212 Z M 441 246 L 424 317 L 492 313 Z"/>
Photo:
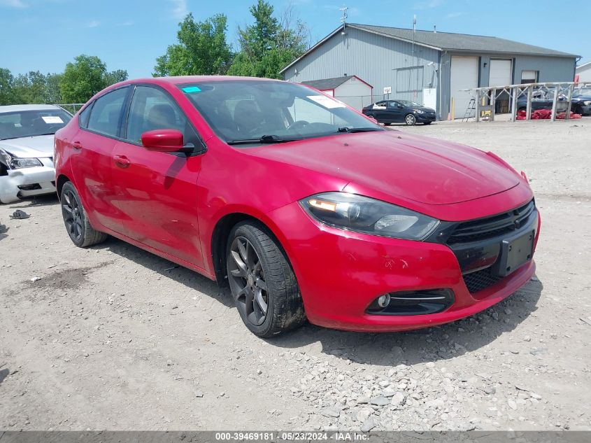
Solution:
<path fill-rule="evenodd" d="M 136 262 L 138 265 L 156 272 L 166 279 L 181 283 L 189 290 L 197 290 L 204 293 L 208 297 L 224 304 L 226 307 L 234 307 L 234 301 L 229 290 L 220 288 L 215 281 L 125 241 L 115 239 L 115 237 L 108 237 L 107 241 L 91 246 L 90 249 L 111 251 L 122 258 Z"/>

